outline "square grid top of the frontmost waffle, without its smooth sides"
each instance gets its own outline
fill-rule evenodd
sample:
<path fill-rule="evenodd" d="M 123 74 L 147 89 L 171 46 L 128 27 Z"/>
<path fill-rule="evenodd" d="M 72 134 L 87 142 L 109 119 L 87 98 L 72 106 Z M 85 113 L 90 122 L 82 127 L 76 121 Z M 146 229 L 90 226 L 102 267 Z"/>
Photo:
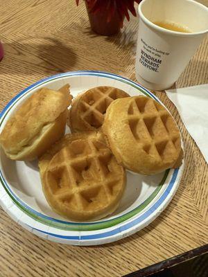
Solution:
<path fill-rule="evenodd" d="M 49 163 L 48 185 L 53 197 L 73 210 L 106 206 L 122 184 L 121 172 L 116 172 L 111 160 L 112 153 L 103 143 L 73 141 Z"/>

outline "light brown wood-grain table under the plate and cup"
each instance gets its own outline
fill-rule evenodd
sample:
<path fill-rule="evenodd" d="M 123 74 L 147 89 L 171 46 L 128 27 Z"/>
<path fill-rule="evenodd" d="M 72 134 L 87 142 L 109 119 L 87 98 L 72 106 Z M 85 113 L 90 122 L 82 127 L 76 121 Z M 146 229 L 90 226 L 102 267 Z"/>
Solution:
<path fill-rule="evenodd" d="M 208 5 L 208 1 L 201 1 Z M 94 35 L 84 3 L 0 0 L 0 108 L 29 84 L 55 73 L 101 70 L 135 80 L 138 19 L 115 37 Z M 204 40 L 176 87 L 208 82 Z M 0 276 L 121 276 L 200 247 L 208 241 L 207 164 L 165 93 L 155 93 L 180 126 L 185 170 L 166 210 L 142 231 L 98 247 L 55 244 L 24 230 L 0 210 Z"/>

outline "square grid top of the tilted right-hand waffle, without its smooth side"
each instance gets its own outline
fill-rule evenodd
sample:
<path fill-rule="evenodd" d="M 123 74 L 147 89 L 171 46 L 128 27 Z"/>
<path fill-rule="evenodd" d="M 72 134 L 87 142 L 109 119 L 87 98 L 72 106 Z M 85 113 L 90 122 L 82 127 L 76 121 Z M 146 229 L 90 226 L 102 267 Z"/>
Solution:
<path fill-rule="evenodd" d="M 173 119 L 162 105 L 149 98 L 135 98 L 128 109 L 131 132 L 147 154 L 166 159 L 177 151 L 180 137 L 174 134 Z M 177 131 L 177 130 L 176 130 Z"/>

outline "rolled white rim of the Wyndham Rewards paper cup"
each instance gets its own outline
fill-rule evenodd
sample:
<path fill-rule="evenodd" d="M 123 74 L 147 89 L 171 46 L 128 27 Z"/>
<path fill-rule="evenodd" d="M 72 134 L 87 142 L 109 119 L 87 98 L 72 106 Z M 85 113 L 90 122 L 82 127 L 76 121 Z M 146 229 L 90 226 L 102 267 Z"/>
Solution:
<path fill-rule="evenodd" d="M 201 6 L 201 8 L 204 8 L 205 10 L 207 10 L 207 16 L 208 16 L 208 8 L 205 5 L 202 5 L 202 3 L 198 3 L 198 2 L 193 1 L 193 0 L 186 0 L 186 1 L 193 2 L 195 5 Z M 142 6 L 144 5 L 145 2 L 146 2 L 146 0 L 143 0 L 139 3 L 139 6 L 138 6 L 139 17 L 144 21 L 144 23 L 146 25 L 150 26 L 151 28 L 153 28 L 153 29 L 155 29 L 155 30 L 157 30 L 161 33 L 166 33 L 167 35 L 176 35 L 176 36 L 179 36 L 179 37 L 193 37 L 193 36 L 196 36 L 196 35 L 203 35 L 203 34 L 208 33 L 208 28 L 205 29 L 205 30 L 202 30 L 200 32 L 182 33 L 182 32 L 177 32 L 175 30 L 168 30 L 168 29 L 159 27 L 156 24 L 154 24 L 153 22 L 151 22 L 149 19 L 147 19 L 144 16 L 143 12 L 141 11 L 141 8 L 142 8 Z"/>

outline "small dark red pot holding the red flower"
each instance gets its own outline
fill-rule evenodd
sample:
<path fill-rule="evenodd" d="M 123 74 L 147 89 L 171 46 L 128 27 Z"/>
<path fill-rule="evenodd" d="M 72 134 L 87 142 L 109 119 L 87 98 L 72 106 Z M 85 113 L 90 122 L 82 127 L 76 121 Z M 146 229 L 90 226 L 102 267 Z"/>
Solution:
<path fill-rule="evenodd" d="M 89 12 L 89 7 L 86 1 L 85 5 L 87 8 L 91 28 L 95 33 L 97 33 L 98 35 L 114 35 L 116 33 L 119 33 L 119 30 L 121 29 L 121 21 L 119 20 L 119 15 L 117 14 L 117 12 L 115 12 L 112 16 L 112 19 L 107 22 L 107 11 L 96 12 L 94 14 L 92 12 Z"/>

